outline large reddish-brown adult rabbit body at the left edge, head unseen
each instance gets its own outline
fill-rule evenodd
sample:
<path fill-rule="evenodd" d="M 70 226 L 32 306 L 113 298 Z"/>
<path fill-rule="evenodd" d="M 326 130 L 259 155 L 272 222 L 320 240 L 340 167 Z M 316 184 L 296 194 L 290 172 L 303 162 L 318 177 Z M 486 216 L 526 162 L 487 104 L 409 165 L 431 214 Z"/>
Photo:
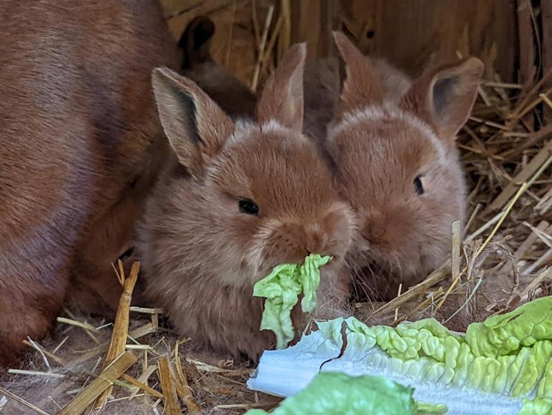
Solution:
<path fill-rule="evenodd" d="M 0 12 L 1 365 L 48 332 L 70 275 L 79 294 L 117 299 L 110 261 L 163 138 L 151 71 L 178 68 L 179 53 L 154 0 L 4 0 Z"/>

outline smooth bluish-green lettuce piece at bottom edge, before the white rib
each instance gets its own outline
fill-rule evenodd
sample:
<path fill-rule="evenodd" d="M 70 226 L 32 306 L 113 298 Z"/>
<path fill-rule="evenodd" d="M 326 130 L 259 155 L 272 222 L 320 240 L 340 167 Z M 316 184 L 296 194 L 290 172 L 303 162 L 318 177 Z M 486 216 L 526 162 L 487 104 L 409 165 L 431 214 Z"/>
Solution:
<path fill-rule="evenodd" d="M 295 396 L 284 399 L 273 415 L 440 415 L 444 407 L 417 404 L 412 389 L 382 376 L 321 373 Z M 268 414 L 250 409 L 246 415 Z"/>

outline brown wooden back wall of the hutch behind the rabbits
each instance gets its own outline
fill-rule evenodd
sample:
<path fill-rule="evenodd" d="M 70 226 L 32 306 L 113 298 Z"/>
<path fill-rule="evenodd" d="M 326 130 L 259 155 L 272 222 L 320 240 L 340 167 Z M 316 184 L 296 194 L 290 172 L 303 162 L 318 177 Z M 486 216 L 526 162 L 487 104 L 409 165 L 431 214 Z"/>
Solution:
<path fill-rule="evenodd" d="M 535 15 L 529 0 L 160 1 L 175 37 L 193 17 L 210 16 L 217 26 L 215 58 L 248 84 L 270 6 L 270 50 L 261 77 L 295 41 L 308 41 L 313 58 L 332 53 L 331 30 L 340 29 L 364 52 L 385 57 L 411 74 L 431 56 L 442 60 L 473 54 L 484 61 L 488 79 L 531 81 L 542 73 L 535 65 L 534 23 L 544 21 L 546 14 L 552 19 L 552 0 L 542 0 L 542 16 Z M 543 26 L 542 36 L 540 43 L 552 43 L 552 28 Z M 552 67 L 552 52 L 545 55 Z"/>

